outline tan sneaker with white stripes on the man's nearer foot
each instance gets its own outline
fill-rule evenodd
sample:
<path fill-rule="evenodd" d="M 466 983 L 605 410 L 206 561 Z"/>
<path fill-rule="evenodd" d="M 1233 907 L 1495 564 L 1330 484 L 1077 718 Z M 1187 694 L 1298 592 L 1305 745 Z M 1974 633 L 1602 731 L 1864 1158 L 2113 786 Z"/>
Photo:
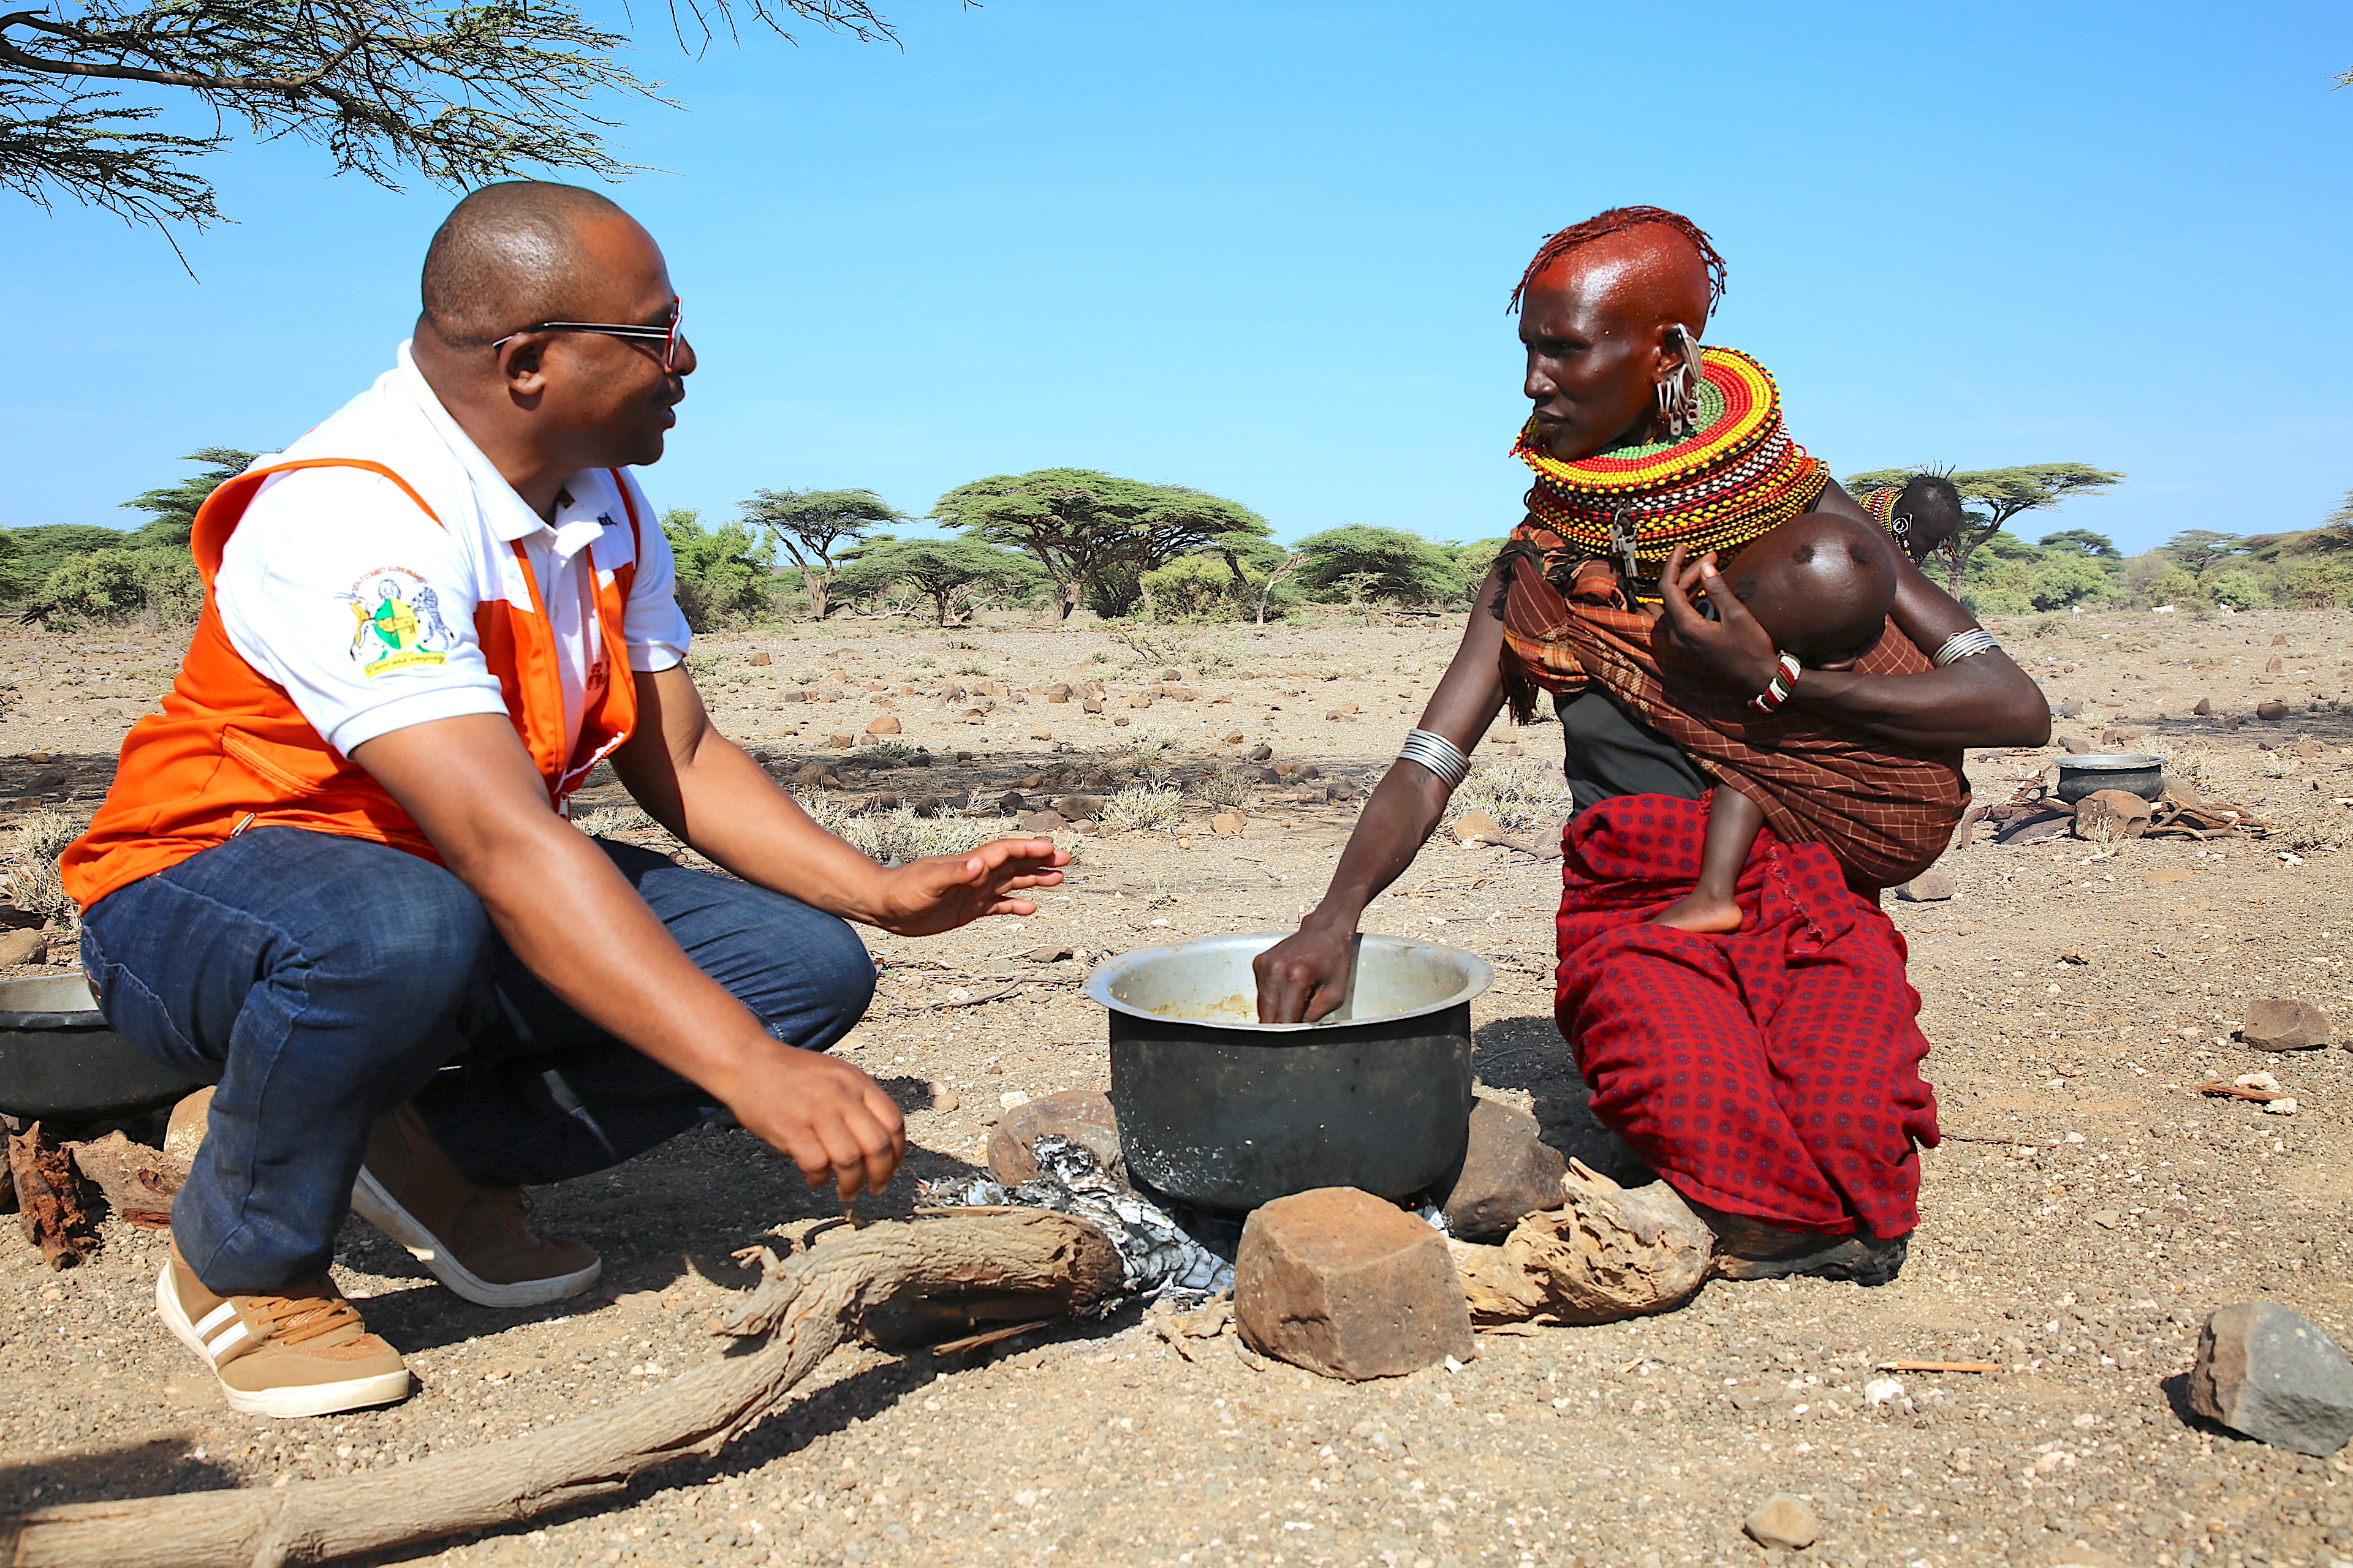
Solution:
<path fill-rule="evenodd" d="M 400 1352 L 367 1333 L 327 1276 L 285 1295 L 214 1295 L 179 1258 L 155 1276 L 155 1312 L 172 1338 L 205 1356 L 247 1415 L 334 1415 L 409 1394 Z"/>

